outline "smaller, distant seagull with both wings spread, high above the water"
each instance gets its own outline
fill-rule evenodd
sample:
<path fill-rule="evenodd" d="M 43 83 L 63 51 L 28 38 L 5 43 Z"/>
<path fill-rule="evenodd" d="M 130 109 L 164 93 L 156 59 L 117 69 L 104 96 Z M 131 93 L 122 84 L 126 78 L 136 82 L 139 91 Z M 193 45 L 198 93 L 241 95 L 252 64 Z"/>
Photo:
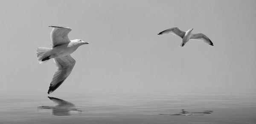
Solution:
<path fill-rule="evenodd" d="M 179 28 L 174 27 L 170 28 L 167 30 L 164 30 L 163 32 L 158 33 L 157 35 L 163 35 L 163 34 L 168 34 L 172 33 L 173 35 L 180 36 L 182 38 L 182 43 L 180 44 L 180 47 L 184 47 L 184 45 L 189 41 L 189 40 L 203 40 L 205 43 L 208 43 L 209 45 L 213 46 L 212 41 L 204 34 L 198 33 L 198 34 L 192 34 L 193 29 L 189 29 L 186 32 L 181 31 Z"/>

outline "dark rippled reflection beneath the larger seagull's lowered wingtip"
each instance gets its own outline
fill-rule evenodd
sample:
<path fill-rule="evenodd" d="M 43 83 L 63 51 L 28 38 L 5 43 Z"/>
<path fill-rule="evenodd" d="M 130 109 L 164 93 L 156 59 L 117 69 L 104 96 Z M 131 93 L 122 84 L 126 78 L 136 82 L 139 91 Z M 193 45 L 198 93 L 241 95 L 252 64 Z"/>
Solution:
<path fill-rule="evenodd" d="M 55 102 L 56 106 L 39 106 L 38 109 L 51 109 L 53 116 L 69 116 L 70 112 L 79 112 L 82 111 L 75 108 L 75 105 L 71 102 L 64 101 L 59 98 L 49 97 L 48 98 Z"/>

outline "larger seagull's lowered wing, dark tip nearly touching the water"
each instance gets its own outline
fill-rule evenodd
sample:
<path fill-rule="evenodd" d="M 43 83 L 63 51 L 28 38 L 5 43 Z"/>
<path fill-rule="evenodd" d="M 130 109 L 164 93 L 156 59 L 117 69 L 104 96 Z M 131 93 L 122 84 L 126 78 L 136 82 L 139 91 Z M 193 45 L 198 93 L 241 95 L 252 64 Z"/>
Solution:
<path fill-rule="evenodd" d="M 64 56 L 62 58 L 54 58 L 53 60 L 58 69 L 53 75 L 48 94 L 57 89 L 65 81 L 67 76 L 70 75 L 76 63 L 76 61 L 70 55 Z"/>

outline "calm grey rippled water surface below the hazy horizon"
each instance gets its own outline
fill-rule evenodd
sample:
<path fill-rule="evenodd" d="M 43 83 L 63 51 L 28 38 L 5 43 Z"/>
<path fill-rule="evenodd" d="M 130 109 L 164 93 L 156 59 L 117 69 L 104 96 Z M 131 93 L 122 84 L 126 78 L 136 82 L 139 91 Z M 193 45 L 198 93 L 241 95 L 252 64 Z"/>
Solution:
<path fill-rule="evenodd" d="M 254 93 L 23 91 L 0 99 L 0 124 L 256 124 Z"/>

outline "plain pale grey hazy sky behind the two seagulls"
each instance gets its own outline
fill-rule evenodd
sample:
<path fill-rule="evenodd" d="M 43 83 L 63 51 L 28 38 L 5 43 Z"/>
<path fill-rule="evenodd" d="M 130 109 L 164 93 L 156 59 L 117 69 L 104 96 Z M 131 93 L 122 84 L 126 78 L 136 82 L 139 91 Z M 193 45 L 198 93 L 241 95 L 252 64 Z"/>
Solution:
<path fill-rule="evenodd" d="M 0 93 L 47 93 L 56 71 L 39 64 L 52 46 L 48 26 L 89 42 L 52 92 L 231 92 L 256 90 L 255 0 L 1 0 Z M 215 46 L 157 33 L 178 27 Z M 17 92 L 18 93 L 18 92 Z"/>

